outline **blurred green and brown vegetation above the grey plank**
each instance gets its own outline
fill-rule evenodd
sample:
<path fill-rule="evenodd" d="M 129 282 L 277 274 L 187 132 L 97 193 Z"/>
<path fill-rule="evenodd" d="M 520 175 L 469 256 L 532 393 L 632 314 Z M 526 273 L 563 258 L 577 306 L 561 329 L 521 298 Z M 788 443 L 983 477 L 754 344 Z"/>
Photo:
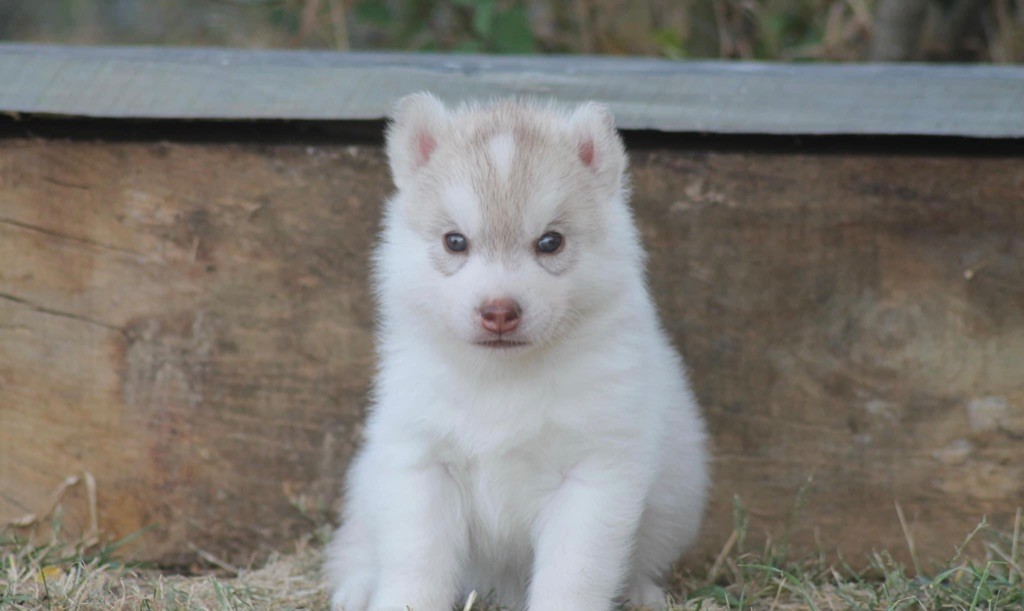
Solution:
<path fill-rule="evenodd" d="M 1024 61 L 1024 0 L 0 0 L 0 40 Z"/>

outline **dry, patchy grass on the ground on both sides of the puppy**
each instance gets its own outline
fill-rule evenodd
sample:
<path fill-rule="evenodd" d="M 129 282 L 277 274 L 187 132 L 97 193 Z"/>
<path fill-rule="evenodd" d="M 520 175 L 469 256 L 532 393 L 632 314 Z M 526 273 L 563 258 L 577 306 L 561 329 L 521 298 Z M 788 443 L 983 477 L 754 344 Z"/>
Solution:
<path fill-rule="evenodd" d="M 909 537 L 910 567 L 888 551 L 858 561 L 866 564 L 859 570 L 820 553 L 791 558 L 784 541 L 742 551 L 745 514 L 738 505 L 735 522 L 706 569 L 673 575 L 674 611 L 1024 609 L 1020 510 L 1012 533 L 982 521 L 947 562 L 928 568 Z M 119 560 L 124 542 L 38 545 L 0 535 L 0 609 L 327 609 L 319 544 L 302 543 L 254 570 L 206 555 L 221 568 L 186 576 Z M 487 609 L 479 602 L 465 608 Z"/>

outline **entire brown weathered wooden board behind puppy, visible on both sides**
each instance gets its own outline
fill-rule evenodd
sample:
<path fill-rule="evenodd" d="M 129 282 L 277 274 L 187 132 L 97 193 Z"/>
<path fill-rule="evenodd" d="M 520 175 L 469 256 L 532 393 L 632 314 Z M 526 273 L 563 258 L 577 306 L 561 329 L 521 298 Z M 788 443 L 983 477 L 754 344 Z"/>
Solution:
<path fill-rule="evenodd" d="M 751 536 L 947 556 L 1024 499 L 1024 163 L 637 150 L 666 323 L 715 445 L 695 558 Z M 91 473 L 167 562 L 290 544 L 337 499 L 389 188 L 343 145 L 0 143 L 0 524 Z M 65 498 L 66 525 L 87 504 Z M 299 508 L 303 508 L 301 511 Z M 73 528 L 74 530 L 74 528 Z"/>

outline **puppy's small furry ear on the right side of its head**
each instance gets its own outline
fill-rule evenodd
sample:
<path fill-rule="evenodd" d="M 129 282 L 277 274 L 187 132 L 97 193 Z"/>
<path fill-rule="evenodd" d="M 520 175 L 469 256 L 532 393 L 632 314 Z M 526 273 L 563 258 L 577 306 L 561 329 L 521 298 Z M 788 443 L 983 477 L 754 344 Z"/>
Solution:
<path fill-rule="evenodd" d="M 598 189 L 612 197 L 622 185 L 627 160 L 611 110 L 587 102 L 572 113 L 569 130 L 577 146 L 577 161 L 591 172 Z"/>

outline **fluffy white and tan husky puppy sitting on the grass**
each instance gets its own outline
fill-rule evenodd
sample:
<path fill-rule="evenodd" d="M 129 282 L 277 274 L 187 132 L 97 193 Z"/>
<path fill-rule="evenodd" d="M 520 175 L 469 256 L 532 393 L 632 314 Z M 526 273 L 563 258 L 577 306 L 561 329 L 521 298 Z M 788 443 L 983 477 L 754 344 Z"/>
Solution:
<path fill-rule="evenodd" d="M 335 607 L 664 606 L 703 511 L 705 427 L 611 114 L 417 94 L 387 154 L 380 370 L 328 550 Z"/>

